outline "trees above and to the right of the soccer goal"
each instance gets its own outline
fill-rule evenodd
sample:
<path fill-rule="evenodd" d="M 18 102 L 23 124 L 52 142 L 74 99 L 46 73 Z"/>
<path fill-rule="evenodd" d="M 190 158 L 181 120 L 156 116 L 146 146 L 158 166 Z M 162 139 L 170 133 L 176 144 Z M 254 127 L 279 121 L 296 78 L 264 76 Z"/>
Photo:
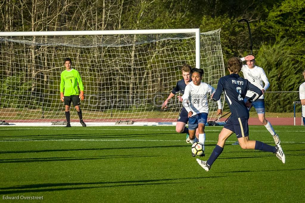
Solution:
<path fill-rule="evenodd" d="M 305 67 L 304 10 L 304 0 L 2 0 L 0 30 L 221 28 L 226 64 L 232 56 L 249 53 L 247 26 L 237 22 L 244 18 L 250 22 L 256 65 L 271 83 L 268 91 L 297 91 Z"/>

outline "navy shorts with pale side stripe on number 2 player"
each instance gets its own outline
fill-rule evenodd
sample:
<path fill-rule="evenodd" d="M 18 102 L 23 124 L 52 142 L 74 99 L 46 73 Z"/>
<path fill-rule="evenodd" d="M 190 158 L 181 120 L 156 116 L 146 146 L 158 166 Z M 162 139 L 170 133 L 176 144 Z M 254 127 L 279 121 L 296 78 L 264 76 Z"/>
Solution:
<path fill-rule="evenodd" d="M 236 134 L 237 138 L 249 136 L 248 118 L 241 117 L 236 119 L 229 118 L 224 128 L 231 130 Z"/>

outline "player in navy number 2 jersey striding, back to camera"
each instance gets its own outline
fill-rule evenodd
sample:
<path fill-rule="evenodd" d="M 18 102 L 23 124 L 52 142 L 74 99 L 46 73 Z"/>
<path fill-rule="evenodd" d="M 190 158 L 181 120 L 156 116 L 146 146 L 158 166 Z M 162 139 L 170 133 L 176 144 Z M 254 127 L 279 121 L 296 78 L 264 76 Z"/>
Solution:
<path fill-rule="evenodd" d="M 230 75 L 219 79 L 217 89 L 212 95 L 212 99 L 217 101 L 220 98 L 221 93 L 224 92 L 225 100 L 228 103 L 232 114 L 221 130 L 217 145 L 210 155 L 210 158 L 207 161 L 202 161 L 199 158 L 196 159 L 199 165 L 206 171 L 210 170 L 213 162 L 223 151 L 225 141 L 233 133 L 236 134 L 241 148 L 273 152 L 283 163 L 285 163 L 285 155 L 280 145 L 273 147 L 260 141 L 249 140 L 249 111 L 247 106 L 250 106 L 251 102 L 255 101 L 263 93 L 258 87 L 238 75 L 241 68 L 242 61 L 239 58 L 233 57 L 229 59 L 228 70 Z M 245 103 L 244 98 L 247 91 L 253 92 L 253 96 Z"/>

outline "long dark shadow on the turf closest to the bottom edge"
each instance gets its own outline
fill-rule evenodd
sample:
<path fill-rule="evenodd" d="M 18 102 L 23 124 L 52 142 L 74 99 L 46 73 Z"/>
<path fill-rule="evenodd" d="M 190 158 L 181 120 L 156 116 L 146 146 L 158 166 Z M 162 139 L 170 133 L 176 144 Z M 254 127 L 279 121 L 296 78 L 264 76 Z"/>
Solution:
<path fill-rule="evenodd" d="M 92 183 L 45 183 L 31 184 L 15 187 L 2 187 L 0 194 L 14 194 L 27 192 L 46 192 L 46 191 L 64 191 L 64 190 L 80 190 L 102 187 L 123 187 L 123 186 L 143 186 L 143 185 L 161 185 L 161 184 L 182 184 L 181 180 L 198 180 L 206 178 L 223 178 L 228 176 L 209 176 L 209 177 L 190 177 L 190 178 L 171 178 L 159 180 L 127 180 L 127 181 L 110 181 L 110 182 L 92 182 Z M 163 183 L 164 182 L 164 183 Z M 82 187 L 73 187 L 82 186 Z M 88 186 L 88 187 L 85 187 Z M 49 187 L 64 187 L 64 188 L 49 188 Z M 42 188 L 42 189 L 41 189 Z M 10 191 L 3 191 L 10 190 Z"/>

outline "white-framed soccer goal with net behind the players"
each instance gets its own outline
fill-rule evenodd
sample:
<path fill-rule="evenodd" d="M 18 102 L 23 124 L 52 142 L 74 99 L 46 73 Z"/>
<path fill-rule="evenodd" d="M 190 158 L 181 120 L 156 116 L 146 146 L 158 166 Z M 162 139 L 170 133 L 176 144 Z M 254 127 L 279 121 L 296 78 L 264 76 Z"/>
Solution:
<path fill-rule="evenodd" d="M 0 120 L 12 123 L 65 120 L 59 84 L 66 57 L 81 74 L 86 122 L 176 122 L 181 103 L 161 105 L 182 64 L 203 68 L 215 88 L 224 75 L 220 29 L 0 32 L 0 43 Z M 217 119 L 217 103 L 209 108 L 209 120 Z M 77 121 L 73 106 L 70 112 Z"/>

